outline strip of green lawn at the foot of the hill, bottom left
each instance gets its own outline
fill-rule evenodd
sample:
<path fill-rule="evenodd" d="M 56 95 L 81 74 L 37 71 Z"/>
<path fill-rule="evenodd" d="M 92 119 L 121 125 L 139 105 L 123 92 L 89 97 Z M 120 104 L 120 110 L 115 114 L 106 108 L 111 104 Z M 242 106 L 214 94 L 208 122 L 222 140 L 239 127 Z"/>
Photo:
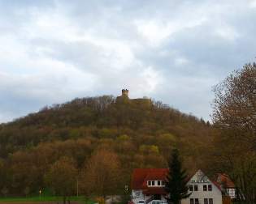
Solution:
<path fill-rule="evenodd" d="M 62 197 L 57 196 L 34 196 L 34 197 L 20 197 L 20 198 L 0 198 L 0 202 L 51 202 L 51 201 L 62 201 Z M 94 202 L 92 200 L 89 200 L 88 198 L 85 198 L 83 196 L 72 196 L 70 198 L 71 201 L 79 201 L 86 204 L 93 204 Z"/>

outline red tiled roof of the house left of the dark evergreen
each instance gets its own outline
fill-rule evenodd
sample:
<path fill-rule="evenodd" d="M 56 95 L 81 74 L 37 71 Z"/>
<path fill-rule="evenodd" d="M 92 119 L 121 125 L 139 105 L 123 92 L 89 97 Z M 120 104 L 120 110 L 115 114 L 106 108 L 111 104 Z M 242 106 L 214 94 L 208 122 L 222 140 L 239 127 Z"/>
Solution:
<path fill-rule="evenodd" d="M 167 168 L 135 168 L 132 172 L 132 189 L 148 189 L 146 182 L 150 180 L 164 180 Z M 150 187 L 150 189 L 153 189 Z M 157 188 L 161 189 L 161 188 Z"/>

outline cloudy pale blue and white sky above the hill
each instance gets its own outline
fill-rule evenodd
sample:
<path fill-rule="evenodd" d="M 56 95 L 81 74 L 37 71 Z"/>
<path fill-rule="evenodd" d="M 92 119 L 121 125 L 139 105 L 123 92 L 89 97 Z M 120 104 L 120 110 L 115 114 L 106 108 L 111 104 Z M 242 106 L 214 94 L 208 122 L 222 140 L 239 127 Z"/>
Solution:
<path fill-rule="evenodd" d="M 0 0 L 0 123 L 122 88 L 210 120 L 255 36 L 256 0 Z"/>

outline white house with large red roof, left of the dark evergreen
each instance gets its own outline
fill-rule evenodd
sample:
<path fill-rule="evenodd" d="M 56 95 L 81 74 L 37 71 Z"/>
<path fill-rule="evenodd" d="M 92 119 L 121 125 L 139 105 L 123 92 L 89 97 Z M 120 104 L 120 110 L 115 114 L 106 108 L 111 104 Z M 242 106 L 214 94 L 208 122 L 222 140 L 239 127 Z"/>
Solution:
<path fill-rule="evenodd" d="M 132 202 L 149 203 L 153 200 L 166 202 L 164 181 L 167 168 L 136 168 L 132 172 Z"/>

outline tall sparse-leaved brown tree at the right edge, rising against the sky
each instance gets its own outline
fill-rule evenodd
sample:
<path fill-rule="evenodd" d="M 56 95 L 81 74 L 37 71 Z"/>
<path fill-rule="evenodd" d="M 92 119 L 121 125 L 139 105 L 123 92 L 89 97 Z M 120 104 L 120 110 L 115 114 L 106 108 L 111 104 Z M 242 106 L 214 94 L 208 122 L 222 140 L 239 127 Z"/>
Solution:
<path fill-rule="evenodd" d="M 212 119 L 220 134 L 215 155 L 243 202 L 256 202 L 256 64 L 246 64 L 214 88 Z"/>

